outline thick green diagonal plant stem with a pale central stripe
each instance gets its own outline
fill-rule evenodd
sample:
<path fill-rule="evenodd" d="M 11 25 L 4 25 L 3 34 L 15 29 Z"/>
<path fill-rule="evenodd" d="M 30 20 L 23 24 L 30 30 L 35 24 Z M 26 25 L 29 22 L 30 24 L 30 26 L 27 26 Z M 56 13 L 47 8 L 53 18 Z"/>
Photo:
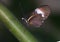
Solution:
<path fill-rule="evenodd" d="M 9 31 L 19 42 L 38 42 L 34 36 L 12 15 L 12 13 L 0 4 L 0 20 L 6 25 Z"/>

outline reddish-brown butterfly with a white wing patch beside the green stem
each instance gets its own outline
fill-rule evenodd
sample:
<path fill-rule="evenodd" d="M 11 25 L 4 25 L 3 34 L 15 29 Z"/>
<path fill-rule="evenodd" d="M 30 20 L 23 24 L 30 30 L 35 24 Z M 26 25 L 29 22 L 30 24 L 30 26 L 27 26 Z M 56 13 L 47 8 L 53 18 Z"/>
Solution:
<path fill-rule="evenodd" d="M 22 20 L 25 20 L 26 23 L 29 26 L 33 27 L 40 27 L 44 20 L 46 20 L 50 14 L 50 8 L 48 5 L 41 6 L 39 8 L 36 8 L 32 13 L 31 16 L 26 20 L 22 18 Z"/>

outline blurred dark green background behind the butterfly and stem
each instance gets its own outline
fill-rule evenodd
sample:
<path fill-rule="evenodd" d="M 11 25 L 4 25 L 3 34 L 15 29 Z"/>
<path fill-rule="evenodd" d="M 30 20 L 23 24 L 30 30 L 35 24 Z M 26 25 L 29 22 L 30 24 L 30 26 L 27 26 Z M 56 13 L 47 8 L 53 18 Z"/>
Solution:
<path fill-rule="evenodd" d="M 40 28 L 27 27 L 27 29 L 39 41 L 57 42 L 60 40 L 60 0 L 0 0 L 0 3 L 5 5 L 18 20 L 28 16 L 28 13 L 41 5 L 49 5 L 51 14 L 44 24 Z M 0 42 L 18 42 L 2 21 L 0 21 Z"/>

